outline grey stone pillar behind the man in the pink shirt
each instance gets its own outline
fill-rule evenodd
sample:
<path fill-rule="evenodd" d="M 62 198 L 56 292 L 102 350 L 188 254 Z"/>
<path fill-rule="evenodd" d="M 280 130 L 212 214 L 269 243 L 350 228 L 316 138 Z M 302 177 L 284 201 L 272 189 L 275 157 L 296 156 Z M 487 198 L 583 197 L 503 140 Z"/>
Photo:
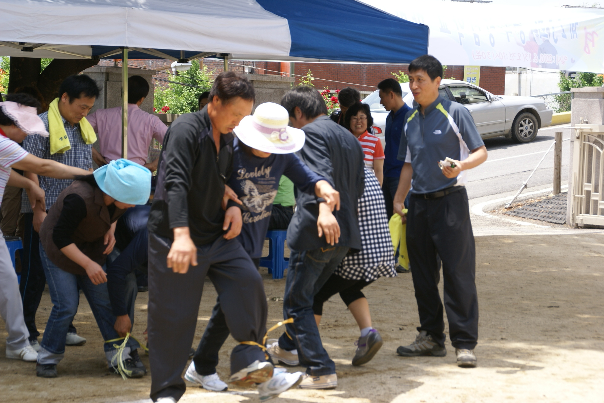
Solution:
<path fill-rule="evenodd" d="M 89 67 L 83 73 L 88 74 L 95 80 L 101 90 L 91 113 L 97 109 L 121 106 L 121 67 Z M 153 82 L 151 77 L 155 74 L 157 74 L 155 70 L 128 68 L 128 77 L 141 76 L 149 83 L 149 95 L 147 95 L 140 108 L 150 114 L 153 113 Z"/>

